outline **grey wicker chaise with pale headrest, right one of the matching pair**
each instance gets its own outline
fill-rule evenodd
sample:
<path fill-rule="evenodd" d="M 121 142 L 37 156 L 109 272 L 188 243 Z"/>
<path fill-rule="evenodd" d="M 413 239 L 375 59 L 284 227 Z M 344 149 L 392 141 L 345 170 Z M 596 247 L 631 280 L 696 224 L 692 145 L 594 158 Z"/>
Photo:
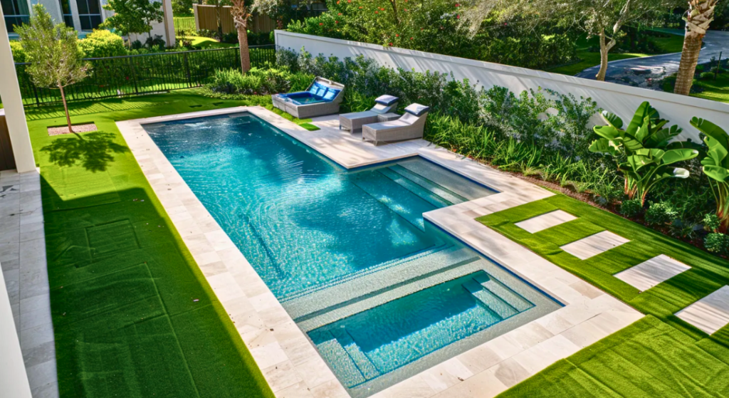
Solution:
<path fill-rule="evenodd" d="M 423 138 L 425 120 L 430 108 L 421 104 L 410 104 L 398 120 L 362 126 L 362 140 L 378 143 Z"/>

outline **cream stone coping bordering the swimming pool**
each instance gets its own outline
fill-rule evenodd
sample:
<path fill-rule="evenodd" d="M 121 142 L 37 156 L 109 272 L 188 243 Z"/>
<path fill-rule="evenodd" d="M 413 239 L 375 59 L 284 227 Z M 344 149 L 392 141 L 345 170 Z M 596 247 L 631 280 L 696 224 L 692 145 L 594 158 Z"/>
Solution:
<path fill-rule="evenodd" d="M 461 157 L 424 140 L 374 147 L 319 117 L 308 131 L 260 106 L 190 112 L 117 122 L 157 198 L 233 320 L 276 397 L 349 397 L 252 265 L 192 193 L 143 124 L 250 112 L 303 144 L 355 168 L 420 155 L 499 193 L 424 217 L 520 276 L 564 307 L 395 384 L 373 397 L 494 397 L 642 318 L 642 313 L 496 233 L 478 216 L 554 195 L 534 184 Z"/>

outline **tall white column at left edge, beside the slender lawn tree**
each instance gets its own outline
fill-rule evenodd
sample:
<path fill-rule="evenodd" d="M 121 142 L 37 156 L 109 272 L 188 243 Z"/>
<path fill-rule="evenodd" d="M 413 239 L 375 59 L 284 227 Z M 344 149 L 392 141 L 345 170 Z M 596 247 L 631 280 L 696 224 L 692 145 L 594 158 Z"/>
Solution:
<path fill-rule="evenodd" d="M 18 173 L 35 171 L 36 160 L 33 157 L 31 136 L 28 134 L 26 111 L 23 109 L 23 98 L 20 96 L 20 85 L 17 83 L 15 63 L 12 61 L 10 40 L 7 36 L 5 18 L 0 9 L 0 97 L 5 107 L 5 121 L 10 132 L 12 153 Z"/>

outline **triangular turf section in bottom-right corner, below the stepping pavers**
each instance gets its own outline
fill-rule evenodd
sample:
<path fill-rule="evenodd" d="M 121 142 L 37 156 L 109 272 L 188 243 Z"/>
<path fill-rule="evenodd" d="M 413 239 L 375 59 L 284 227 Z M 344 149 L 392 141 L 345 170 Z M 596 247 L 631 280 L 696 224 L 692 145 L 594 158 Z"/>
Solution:
<path fill-rule="evenodd" d="M 677 329 L 646 316 L 499 398 L 728 396 L 728 364 Z"/>

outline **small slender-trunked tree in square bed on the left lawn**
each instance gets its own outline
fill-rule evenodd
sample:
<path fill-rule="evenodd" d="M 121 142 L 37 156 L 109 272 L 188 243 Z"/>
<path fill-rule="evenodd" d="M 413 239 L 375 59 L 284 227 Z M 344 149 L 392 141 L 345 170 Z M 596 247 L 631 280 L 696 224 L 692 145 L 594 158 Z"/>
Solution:
<path fill-rule="evenodd" d="M 33 6 L 31 24 L 16 26 L 15 32 L 26 50 L 26 61 L 30 63 L 26 72 L 34 85 L 61 90 L 66 123 L 69 132 L 73 133 L 63 87 L 84 79 L 90 69 L 90 65 L 82 59 L 76 31 L 64 23 L 55 25 L 42 4 L 36 4 Z"/>

